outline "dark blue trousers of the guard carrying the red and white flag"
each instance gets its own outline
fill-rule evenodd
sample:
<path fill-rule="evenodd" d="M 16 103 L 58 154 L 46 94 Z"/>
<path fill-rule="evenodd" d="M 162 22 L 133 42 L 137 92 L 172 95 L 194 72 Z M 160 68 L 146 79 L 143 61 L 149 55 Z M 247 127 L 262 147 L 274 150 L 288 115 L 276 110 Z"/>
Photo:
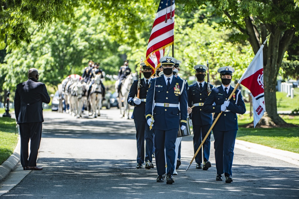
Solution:
<path fill-rule="evenodd" d="M 215 131 L 214 149 L 217 174 L 228 173 L 232 175 L 231 167 L 234 158 L 234 146 L 237 136 L 237 130 Z"/>

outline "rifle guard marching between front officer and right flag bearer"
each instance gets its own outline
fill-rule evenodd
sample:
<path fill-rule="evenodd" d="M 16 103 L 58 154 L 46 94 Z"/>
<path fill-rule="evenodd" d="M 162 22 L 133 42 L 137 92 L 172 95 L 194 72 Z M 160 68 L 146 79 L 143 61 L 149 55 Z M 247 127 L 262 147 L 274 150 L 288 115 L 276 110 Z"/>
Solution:
<path fill-rule="evenodd" d="M 202 143 L 202 140 L 205 138 L 207 132 L 209 131 L 210 127 L 213 124 L 213 116 L 212 113 L 207 113 L 202 109 L 202 106 L 204 105 L 205 100 L 209 94 L 208 83 L 205 82 L 205 76 L 206 76 L 205 73 L 208 70 L 208 67 L 199 64 L 194 66 L 194 69 L 196 71 L 195 76 L 197 78 L 197 81 L 195 84 L 189 87 L 188 104 L 190 106 L 195 106 L 192 109 L 191 115 L 189 115 L 193 123 L 193 148 L 195 154 L 198 147 Z M 210 84 L 210 89 L 212 88 L 215 88 L 215 86 Z M 196 169 L 208 170 L 211 167 L 211 163 L 209 161 L 211 133 L 212 132 L 210 132 L 207 139 L 203 143 L 202 148 L 195 156 Z M 202 165 L 202 159 L 203 159 L 203 165 Z"/>

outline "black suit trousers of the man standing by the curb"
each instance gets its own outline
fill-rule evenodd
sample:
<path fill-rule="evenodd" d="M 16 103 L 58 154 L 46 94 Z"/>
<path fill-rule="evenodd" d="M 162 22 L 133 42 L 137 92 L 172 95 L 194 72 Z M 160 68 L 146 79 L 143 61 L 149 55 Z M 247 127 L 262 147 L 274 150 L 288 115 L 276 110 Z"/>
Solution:
<path fill-rule="evenodd" d="M 42 138 L 42 122 L 20 123 L 19 125 L 21 137 L 21 164 L 23 167 L 36 166 L 38 149 Z M 28 152 L 29 140 L 30 155 Z"/>

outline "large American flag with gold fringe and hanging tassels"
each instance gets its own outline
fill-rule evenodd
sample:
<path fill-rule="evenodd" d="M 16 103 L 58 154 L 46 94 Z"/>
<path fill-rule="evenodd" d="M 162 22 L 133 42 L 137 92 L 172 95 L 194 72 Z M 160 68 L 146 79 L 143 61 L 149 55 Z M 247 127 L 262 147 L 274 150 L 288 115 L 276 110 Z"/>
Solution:
<path fill-rule="evenodd" d="M 165 48 L 174 41 L 174 8 L 174 0 L 161 0 L 152 25 L 144 63 L 154 72 L 161 65 L 159 59 L 164 56 Z"/>

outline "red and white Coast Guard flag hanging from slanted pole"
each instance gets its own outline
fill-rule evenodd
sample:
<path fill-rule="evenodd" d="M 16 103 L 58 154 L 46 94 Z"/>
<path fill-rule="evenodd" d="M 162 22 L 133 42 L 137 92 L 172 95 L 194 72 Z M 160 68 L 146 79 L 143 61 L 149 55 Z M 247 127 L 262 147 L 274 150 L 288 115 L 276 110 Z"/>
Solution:
<path fill-rule="evenodd" d="M 267 40 L 266 40 L 267 41 Z M 266 43 L 264 42 L 264 44 Z M 259 51 L 249 64 L 247 70 L 239 80 L 239 83 L 247 87 L 251 92 L 252 104 L 253 104 L 253 124 L 254 127 L 262 118 L 265 109 L 265 97 L 264 97 L 264 78 L 263 78 L 263 47 L 260 47 Z"/>

